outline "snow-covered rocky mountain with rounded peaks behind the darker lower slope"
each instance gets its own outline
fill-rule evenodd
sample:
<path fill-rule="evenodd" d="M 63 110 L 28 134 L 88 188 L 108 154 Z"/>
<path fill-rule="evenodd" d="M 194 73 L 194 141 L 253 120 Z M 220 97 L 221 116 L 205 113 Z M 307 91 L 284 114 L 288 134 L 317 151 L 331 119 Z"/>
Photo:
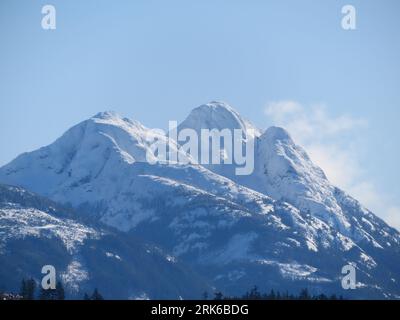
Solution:
<path fill-rule="evenodd" d="M 184 128 L 251 133 L 254 172 L 237 176 L 234 164 L 149 164 L 154 132 L 107 112 L 0 168 L 0 182 L 156 244 L 227 293 L 256 284 L 400 296 L 399 233 L 333 186 L 284 129 L 262 132 L 219 102 L 194 109 Z M 346 264 L 356 266 L 358 288 L 343 293 Z"/>

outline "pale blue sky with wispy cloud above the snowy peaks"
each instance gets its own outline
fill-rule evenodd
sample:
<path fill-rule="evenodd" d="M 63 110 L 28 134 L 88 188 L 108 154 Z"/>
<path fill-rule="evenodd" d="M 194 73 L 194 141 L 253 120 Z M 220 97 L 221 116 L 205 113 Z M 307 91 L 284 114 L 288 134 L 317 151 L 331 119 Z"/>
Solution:
<path fill-rule="evenodd" d="M 357 30 L 341 28 L 346 4 Z M 399 12 L 396 0 L 2 0 L 0 165 L 98 111 L 166 128 L 224 100 L 261 128 L 302 119 L 297 140 L 331 180 L 400 226 Z"/>

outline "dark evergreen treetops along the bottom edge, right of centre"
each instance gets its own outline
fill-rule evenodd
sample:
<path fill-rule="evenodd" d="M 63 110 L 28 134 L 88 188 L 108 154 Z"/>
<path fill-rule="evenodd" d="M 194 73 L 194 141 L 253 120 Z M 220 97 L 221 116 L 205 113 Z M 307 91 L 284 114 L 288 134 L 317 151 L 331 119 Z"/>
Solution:
<path fill-rule="evenodd" d="M 208 299 L 208 294 L 203 294 L 203 299 Z M 299 294 L 290 294 L 288 291 L 280 292 L 271 290 L 269 293 L 260 292 L 257 286 L 254 286 L 250 291 L 242 296 L 225 296 L 222 292 L 214 293 L 214 300 L 343 300 L 343 297 L 333 295 L 311 294 L 308 289 L 302 289 Z"/>

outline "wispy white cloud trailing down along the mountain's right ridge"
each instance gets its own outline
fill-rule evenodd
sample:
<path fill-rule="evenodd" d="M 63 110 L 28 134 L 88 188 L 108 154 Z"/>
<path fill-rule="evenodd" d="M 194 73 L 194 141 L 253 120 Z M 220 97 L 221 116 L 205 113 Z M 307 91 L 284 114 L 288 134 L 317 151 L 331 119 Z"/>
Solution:
<path fill-rule="evenodd" d="M 400 207 L 391 205 L 362 169 L 357 141 L 368 126 L 365 119 L 334 117 L 324 105 L 305 107 L 296 101 L 271 102 L 265 113 L 274 125 L 290 132 L 333 184 L 400 230 Z"/>

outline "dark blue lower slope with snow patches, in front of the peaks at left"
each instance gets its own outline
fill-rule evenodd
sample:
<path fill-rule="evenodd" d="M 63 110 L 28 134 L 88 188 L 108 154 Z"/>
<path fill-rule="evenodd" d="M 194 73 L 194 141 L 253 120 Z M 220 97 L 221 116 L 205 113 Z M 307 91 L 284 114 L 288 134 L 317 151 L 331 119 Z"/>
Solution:
<path fill-rule="evenodd" d="M 17 292 L 23 278 L 53 265 L 69 298 L 95 287 L 106 298 L 198 298 L 203 279 L 160 248 L 98 224 L 22 188 L 0 185 L 0 284 Z M 179 281 L 178 281 L 179 280 Z"/>

